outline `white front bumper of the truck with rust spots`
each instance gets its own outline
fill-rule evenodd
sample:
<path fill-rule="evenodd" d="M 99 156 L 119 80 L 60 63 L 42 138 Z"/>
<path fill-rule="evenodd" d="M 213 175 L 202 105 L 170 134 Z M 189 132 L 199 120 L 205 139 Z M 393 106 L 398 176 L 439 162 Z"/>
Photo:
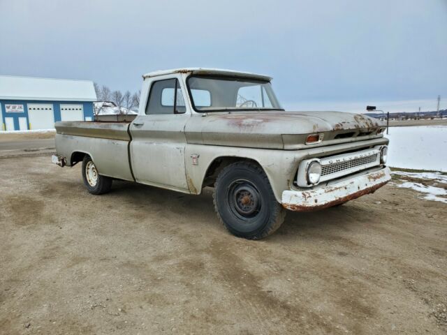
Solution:
<path fill-rule="evenodd" d="M 315 211 L 374 193 L 391 180 L 389 168 L 306 191 L 284 191 L 282 205 L 291 211 Z"/>

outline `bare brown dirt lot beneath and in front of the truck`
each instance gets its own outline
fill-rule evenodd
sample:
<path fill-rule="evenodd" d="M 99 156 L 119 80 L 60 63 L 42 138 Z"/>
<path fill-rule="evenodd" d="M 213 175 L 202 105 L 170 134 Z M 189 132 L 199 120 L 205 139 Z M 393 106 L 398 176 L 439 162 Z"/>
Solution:
<path fill-rule="evenodd" d="M 387 185 L 228 234 L 212 193 L 0 158 L 0 334 L 446 334 L 447 205 Z"/>

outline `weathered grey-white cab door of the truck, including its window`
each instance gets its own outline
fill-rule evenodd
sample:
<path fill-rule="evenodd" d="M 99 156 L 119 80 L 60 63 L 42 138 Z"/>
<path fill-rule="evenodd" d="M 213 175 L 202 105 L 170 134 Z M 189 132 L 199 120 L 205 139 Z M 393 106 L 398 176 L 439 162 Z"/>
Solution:
<path fill-rule="evenodd" d="M 186 111 L 180 80 L 154 80 L 145 115 L 132 122 L 131 162 L 135 180 L 189 193 L 185 174 Z"/>

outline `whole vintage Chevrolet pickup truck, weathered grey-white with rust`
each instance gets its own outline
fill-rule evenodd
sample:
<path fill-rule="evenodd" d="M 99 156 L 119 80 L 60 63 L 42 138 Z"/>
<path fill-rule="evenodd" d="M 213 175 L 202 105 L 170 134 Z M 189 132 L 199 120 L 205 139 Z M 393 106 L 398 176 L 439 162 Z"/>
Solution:
<path fill-rule="evenodd" d="M 143 76 L 140 109 L 115 121 L 57 122 L 53 163 L 82 162 L 87 190 L 113 179 L 200 194 L 238 237 L 262 239 L 285 209 L 313 211 L 390 181 L 381 121 L 345 112 L 285 112 L 271 77 L 184 68 Z"/>

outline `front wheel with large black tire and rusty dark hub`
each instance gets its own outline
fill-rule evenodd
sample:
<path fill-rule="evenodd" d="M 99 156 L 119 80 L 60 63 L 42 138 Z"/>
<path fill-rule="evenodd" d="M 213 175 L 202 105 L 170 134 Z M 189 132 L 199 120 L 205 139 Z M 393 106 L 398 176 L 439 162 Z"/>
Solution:
<path fill-rule="evenodd" d="M 267 237 L 286 216 L 264 171 L 247 161 L 223 168 L 214 184 L 213 199 L 221 223 L 229 232 L 245 239 Z"/>

